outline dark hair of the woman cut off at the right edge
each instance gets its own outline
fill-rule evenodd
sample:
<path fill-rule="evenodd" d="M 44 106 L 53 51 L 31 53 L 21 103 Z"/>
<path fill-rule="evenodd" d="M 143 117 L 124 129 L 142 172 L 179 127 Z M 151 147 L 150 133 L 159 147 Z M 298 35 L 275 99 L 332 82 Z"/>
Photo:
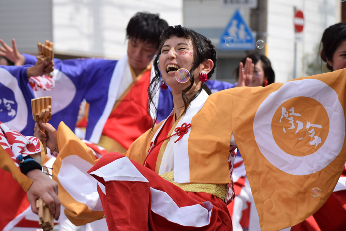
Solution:
<path fill-rule="evenodd" d="M 340 44 L 346 40 L 346 23 L 337 23 L 328 27 L 323 32 L 320 47 L 322 45 L 321 59 L 324 62 L 333 61 L 334 52 L 338 49 Z M 327 68 L 331 71 L 333 67 L 327 63 Z"/>

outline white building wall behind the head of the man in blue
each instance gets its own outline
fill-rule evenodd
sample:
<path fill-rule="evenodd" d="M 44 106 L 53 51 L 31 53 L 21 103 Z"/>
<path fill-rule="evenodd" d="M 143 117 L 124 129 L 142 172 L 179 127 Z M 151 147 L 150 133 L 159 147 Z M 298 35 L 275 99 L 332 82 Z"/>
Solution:
<path fill-rule="evenodd" d="M 120 58 L 126 54 L 126 26 L 143 11 L 182 24 L 182 0 L 53 0 L 55 51 Z"/>

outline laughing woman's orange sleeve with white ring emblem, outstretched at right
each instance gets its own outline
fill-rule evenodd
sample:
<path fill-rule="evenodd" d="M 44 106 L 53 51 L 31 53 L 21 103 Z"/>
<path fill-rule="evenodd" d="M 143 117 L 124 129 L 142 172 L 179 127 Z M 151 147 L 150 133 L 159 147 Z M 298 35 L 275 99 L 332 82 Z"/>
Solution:
<path fill-rule="evenodd" d="M 260 144 L 256 141 L 259 138 L 255 138 L 254 126 L 259 126 L 260 128 L 256 129 L 262 133 L 269 134 L 269 132 L 272 132 L 274 138 L 278 138 L 278 141 L 275 140 L 276 144 L 278 146 L 280 145 L 279 148 L 285 150 L 286 153 L 288 153 L 286 151 L 287 149 L 292 149 L 293 152 L 290 154 L 292 156 L 295 154 L 300 157 L 310 155 L 310 149 L 315 149 L 316 146 L 312 146 L 311 143 L 310 145 L 308 144 L 312 140 L 308 135 L 310 133 L 312 134 L 313 131 L 309 131 L 310 133 L 305 136 L 305 125 L 308 121 L 322 124 L 322 129 L 319 130 L 315 127 L 316 134 L 313 134 L 321 137 L 322 142 L 324 142 L 326 140 L 324 136 L 332 133 L 332 131 L 328 133 L 328 124 L 330 121 L 328 120 L 328 116 L 326 116 L 326 109 L 334 105 L 330 104 L 325 108 L 321 104 L 316 103 L 315 101 L 317 100 L 311 100 L 312 98 L 310 97 L 294 97 L 291 95 L 294 95 L 298 90 L 303 93 L 309 90 L 310 93 L 308 96 L 315 96 L 316 98 L 318 96 L 319 100 L 323 100 L 326 96 L 322 95 L 322 92 L 314 91 L 314 89 L 319 89 L 317 86 L 324 86 L 326 84 L 328 87 L 323 89 L 325 91 L 328 89 L 336 92 L 333 97 L 337 97 L 340 101 L 339 105 L 342 107 L 341 113 L 344 114 L 346 111 L 345 76 L 346 69 L 342 69 L 312 77 L 294 79 L 290 81 L 293 83 L 291 86 L 297 87 L 288 88 L 284 91 L 285 94 L 281 94 L 280 97 L 286 97 L 281 105 L 275 101 L 277 100 L 276 98 L 270 101 L 271 103 L 266 102 L 264 104 L 263 102 L 271 93 L 280 92 L 280 88 L 283 87 L 282 83 L 274 83 L 265 88 L 233 88 L 210 95 L 199 113 L 192 118 L 188 145 L 190 182 L 230 182 L 227 161 L 225 160 L 228 156 L 231 133 L 233 133 L 238 149 L 244 159 L 247 176 L 253 189 L 252 193 L 259 213 L 262 230 L 274 231 L 291 227 L 311 216 L 325 203 L 342 172 L 346 159 L 345 132 L 333 135 L 333 142 L 326 143 L 326 147 L 329 147 L 330 150 L 335 150 L 337 143 L 340 144 L 339 147 L 341 149 L 341 152 L 337 152 L 336 157 L 326 167 L 311 174 L 299 175 L 286 173 L 267 160 L 264 154 L 270 153 L 273 146 L 269 143 L 265 144 L 267 150 L 265 150 L 264 154 L 259 150 Z M 313 79 L 312 81 L 315 81 L 314 85 L 309 85 L 309 87 L 299 85 L 303 84 L 302 80 L 305 79 Z M 311 83 L 309 80 L 306 82 Z M 287 86 L 285 84 L 285 87 Z M 332 97 L 332 94 L 328 95 L 328 99 L 330 97 Z M 274 102 L 278 103 L 278 106 L 273 106 Z M 274 116 L 265 121 L 271 126 L 269 128 L 264 123 L 255 123 L 255 115 L 261 105 L 265 107 L 266 111 L 261 111 L 260 118 L 268 116 L 269 110 L 276 110 L 274 111 Z M 298 123 L 296 121 L 302 120 L 304 122 L 303 124 L 305 125 L 297 133 L 297 136 L 302 135 L 301 138 L 307 143 L 305 146 L 300 146 L 301 143 L 299 143 L 299 140 L 301 139 L 295 137 L 296 129 L 287 130 L 291 124 L 287 124 L 288 122 L 285 123 L 284 128 L 286 130 L 282 129 L 282 124 L 284 123 L 279 124 L 281 112 L 284 107 L 287 110 L 294 107 L 296 109 L 294 112 L 302 115 L 299 119 L 294 120 L 294 124 L 296 125 L 296 129 L 298 129 Z M 334 112 L 337 111 L 330 110 L 330 113 Z M 340 111 L 338 113 L 338 115 L 341 115 Z M 340 125 L 345 128 L 345 114 L 344 116 L 339 116 L 338 120 L 334 121 L 340 122 Z M 334 129 L 338 129 L 338 127 Z M 312 129 L 310 128 L 310 130 Z M 319 135 L 317 132 L 320 132 L 322 135 Z M 285 135 L 288 133 L 289 135 L 292 134 L 292 136 Z M 293 148 L 289 147 L 291 144 L 297 144 L 297 146 L 293 146 Z M 317 149 L 319 147 L 321 145 Z M 305 151 L 306 153 L 304 153 Z M 330 153 L 325 153 L 325 157 L 328 155 L 330 156 Z M 280 158 L 278 157 L 277 159 Z M 315 161 L 319 160 L 321 158 L 315 159 Z M 309 162 L 303 163 L 307 165 Z M 285 167 L 292 166 L 294 169 L 299 169 L 298 167 L 301 166 L 301 164 L 285 161 L 285 159 L 282 160 L 281 164 Z M 321 165 L 311 163 L 310 166 L 316 167 Z M 300 168 L 297 171 L 303 170 L 305 168 Z M 318 197 L 312 196 L 312 189 L 315 187 L 320 189 Z M 299 212 L 292 214 L 292 211 Z"/>

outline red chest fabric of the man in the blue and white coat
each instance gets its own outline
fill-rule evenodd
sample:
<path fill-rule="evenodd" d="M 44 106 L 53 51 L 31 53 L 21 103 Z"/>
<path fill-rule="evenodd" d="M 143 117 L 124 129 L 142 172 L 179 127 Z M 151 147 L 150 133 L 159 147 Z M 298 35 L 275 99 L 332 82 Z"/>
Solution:
<path fill-rule="evenodd" d="M 147 111 L 150 70 L 132 87 L 118 107 L 109 116 L 104 128 L 106 135 L 124 148 L 152 127 L 152 119 Z"/>

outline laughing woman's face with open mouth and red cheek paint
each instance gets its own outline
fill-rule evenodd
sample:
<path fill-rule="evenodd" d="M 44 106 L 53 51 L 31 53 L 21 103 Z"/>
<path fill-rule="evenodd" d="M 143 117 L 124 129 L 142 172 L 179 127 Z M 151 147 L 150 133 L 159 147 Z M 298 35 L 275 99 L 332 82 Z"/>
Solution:
<path fill-rule="evenodd" d="M 161 49 L 159 66 L 161 75 L 165 83 L 172 90 L 183 90 L 190 85 L 190 81 L 180 83 L 175 79 L 175 72 L 180 68 L 185 68 L 190 71 L 194 61 L 194 47 L 191 39 L 172 36 L 167 39 Z M 198 79 L 198 71 L 194 71 L 195 80 Z"/>

